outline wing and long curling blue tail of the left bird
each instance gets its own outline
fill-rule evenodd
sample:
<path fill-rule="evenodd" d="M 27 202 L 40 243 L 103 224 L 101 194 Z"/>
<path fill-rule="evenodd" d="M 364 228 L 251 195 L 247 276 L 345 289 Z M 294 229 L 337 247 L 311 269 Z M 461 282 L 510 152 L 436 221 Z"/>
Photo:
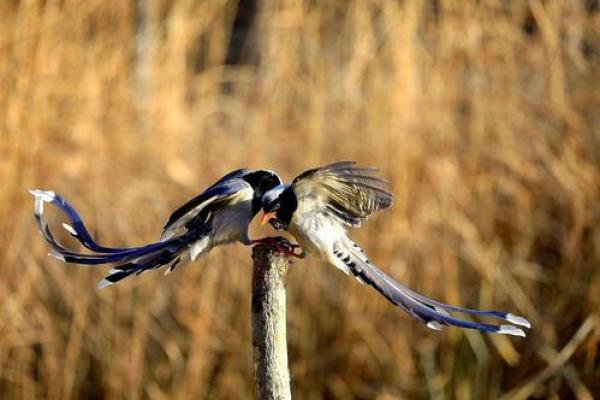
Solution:
<path fill-rule="evenodd" d="M 183 259 L 186 258 L 184 253 L 190 248 L 190 245 L 194 243 L 206 245 L 206 240 L 199 241 L 199 239 L 206 234 L 208 225 L 203 222 L 208 222 L 211 212 L 216 207 L 246 198 L 249 191 L 251 193 L 252 187 L 244 180 L 239 179 L 243 174 L 244 170 L 239 170 L 226 175 L 205 192 L 184 204 L 169 219 L 159 242 L 139 247 L 114 248 L 99 245 L 89 234 L 75 208 L 62 196 L 47 190 L 34 189 L 30 192 L 35 197 L 36 223 L 50 247 L 50 255 L 64 262 L 81 265 L 116 265 L 100 282 L 98 287 L 102 288 L 128 276 L 139 275 L 149 269 L 167 266 L 167 271 L 170 272 L 175 266 L 182 264 Z M 93 254 L 72 251 L 55 239 L 44 216 L 44 204 L 46 203 L 57 207 L 68 218 L 69 222 L 62 224 L 65 230 L 84 247 L 92 250 Z M 199 222 L 199 224 L 195 222 Z M 184 226 L 189 229 L 181 235 L 176 235 L 177 231 Z"/>

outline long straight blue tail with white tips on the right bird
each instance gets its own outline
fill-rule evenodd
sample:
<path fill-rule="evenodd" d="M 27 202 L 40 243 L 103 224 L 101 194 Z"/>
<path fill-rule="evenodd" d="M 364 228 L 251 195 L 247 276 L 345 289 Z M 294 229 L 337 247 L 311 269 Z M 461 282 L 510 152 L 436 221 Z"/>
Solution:
<path fill-rule="evenodd" d="M 343 248 L 342 246 L 335 248 L 334 254 L 357 279 L 373 287 L 391 303 L 401 307 L 431 329 L 440 330 L 444 325 L 451 325 L 460 328 L 476 329 L 488 333 L 525 336 L 525 332 L 514 325 L 520 325 L 526 328 L 531 327 L 531 324 L 525 318 L 511 313 L 451 306 L 416 293 L 371 264 L 364 255 L 364 252 L 362 252 L 355 244 L 346 246 L 346 248 Z M 492 325 L 482 322 L 467 321 L 450 315 L 448 311 L 499 318 L 514 325 Z"/>

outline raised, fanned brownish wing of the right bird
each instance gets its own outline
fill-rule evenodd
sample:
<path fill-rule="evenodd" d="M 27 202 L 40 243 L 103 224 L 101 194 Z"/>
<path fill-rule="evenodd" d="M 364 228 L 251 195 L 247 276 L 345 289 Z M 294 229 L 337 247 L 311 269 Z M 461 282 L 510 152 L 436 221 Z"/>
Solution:
<path fill-rule="evenodd" d="M 387 191 L 387 181 L 373 175 L 375 168 L 355 167 L 354 161 L 341 161 L 311 169 L 298 175 L 292 187 L 298 200 L 314 202 L 345 224 L 360 226 L 375 211 L 392 205 L 392 195 Z"/>

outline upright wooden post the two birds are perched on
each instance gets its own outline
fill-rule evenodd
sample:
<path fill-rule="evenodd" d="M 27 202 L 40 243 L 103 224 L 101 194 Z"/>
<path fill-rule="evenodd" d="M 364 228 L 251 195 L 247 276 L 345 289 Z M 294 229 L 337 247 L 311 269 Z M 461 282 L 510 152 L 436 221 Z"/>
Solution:
<path fill-rule="evenodd" d="M 287 363 L 285 275 L 287 257 L 272 246 L 252 250 L 252 345 L 257 399 L 291 399 Z"/>

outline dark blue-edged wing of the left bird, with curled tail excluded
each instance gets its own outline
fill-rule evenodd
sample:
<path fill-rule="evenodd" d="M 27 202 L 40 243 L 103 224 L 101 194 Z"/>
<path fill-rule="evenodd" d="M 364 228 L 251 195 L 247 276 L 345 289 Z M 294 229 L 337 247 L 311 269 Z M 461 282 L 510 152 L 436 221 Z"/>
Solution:
<path fill-rule="evenodd" d="M 179 229 L 187 226 L 199 217 L 203 211 L 207 211 L 216 204 L 233 201 L 238 197 L 248 196 L 251 198 L 253 192 L 252 186 L 243 179 L 238 178 L 244 174 L 244 171 L 238 170 L 228 174 L 213 186 L 175 210 L 163 228 L 161 240 L 172 237 Z"/>

